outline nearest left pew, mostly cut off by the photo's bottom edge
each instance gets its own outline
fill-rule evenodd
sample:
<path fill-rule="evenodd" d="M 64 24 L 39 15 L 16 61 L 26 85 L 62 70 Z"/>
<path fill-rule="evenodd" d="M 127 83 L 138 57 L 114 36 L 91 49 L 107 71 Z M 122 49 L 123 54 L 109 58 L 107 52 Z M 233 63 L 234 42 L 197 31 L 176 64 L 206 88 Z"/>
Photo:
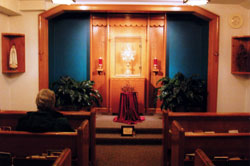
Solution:
<path fill-rule="evenodd" d="M 59 156 L 55 155 L 33 155 L 18 157 L 11 157 L 12 161 L 9 165 L 14 166 L 71 166 L 71 150 L 69 148 L 64 149 Z"/>

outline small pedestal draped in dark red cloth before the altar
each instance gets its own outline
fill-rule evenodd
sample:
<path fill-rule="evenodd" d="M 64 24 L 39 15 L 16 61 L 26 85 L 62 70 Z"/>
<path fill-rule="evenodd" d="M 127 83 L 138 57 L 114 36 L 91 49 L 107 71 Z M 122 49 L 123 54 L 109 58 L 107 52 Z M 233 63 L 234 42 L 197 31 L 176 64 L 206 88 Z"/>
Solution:
<path fill-rule="evenodd" d="M 145 120 L 140 117 L 138 112 L 138 102 L 136 92 L 123 92 L 120 95 L 120 107 L 118 117 L 114 118 L 115 122 L 135 124 Z"/>

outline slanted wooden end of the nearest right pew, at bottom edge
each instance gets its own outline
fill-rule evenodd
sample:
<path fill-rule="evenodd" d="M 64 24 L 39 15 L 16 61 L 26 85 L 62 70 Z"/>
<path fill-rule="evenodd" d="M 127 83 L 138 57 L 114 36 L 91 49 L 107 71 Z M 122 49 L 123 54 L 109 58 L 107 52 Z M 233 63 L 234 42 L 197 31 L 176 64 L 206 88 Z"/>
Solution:
<path fill-rule="evenodd" d="M 201 149 L 195 150 L 194 166 L 215 166 Z"/>

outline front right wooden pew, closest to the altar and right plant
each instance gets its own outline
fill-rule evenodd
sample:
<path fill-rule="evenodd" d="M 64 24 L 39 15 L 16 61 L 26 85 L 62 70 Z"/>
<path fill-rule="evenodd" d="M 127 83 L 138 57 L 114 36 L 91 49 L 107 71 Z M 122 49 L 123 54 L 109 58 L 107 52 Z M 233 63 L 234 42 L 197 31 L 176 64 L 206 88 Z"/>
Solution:
<path fill-rule="evenodd" d="M 163 111 L 163 165 L 169 162 L 171 124 L 177 120 L 187 131 L 203 130 L 250 132 L 250 113 L 171 112 Z"/>

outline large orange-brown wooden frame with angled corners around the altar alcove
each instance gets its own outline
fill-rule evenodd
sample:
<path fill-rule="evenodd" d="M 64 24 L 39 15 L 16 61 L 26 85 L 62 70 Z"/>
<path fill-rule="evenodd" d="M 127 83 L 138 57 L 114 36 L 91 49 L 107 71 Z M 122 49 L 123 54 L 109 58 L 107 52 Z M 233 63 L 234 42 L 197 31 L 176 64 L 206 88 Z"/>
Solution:
<path fill-rule="evenodd" d="M 49 87 L 48 21 L 65 12 L 90 13 L 191 13 L 209 21 L 207 111 L 216 112 L 219 56 L 219 16 L 197 6 L 171 5 L 60 5 L 39 15 L 39 89 Z"/>

